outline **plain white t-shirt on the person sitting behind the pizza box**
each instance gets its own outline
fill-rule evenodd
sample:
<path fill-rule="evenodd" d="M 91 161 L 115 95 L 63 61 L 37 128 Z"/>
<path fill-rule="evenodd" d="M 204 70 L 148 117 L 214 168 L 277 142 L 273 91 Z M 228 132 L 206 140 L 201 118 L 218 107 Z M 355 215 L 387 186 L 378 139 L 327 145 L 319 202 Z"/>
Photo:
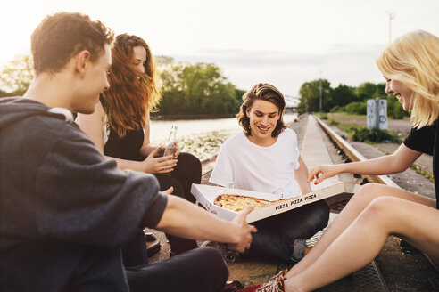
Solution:
<path fill-rule="evenodd" d="M 282 194 L 283 199 L 289 199 L 301 194 L 294 179 L 298 159 L 297 135 L 292 129 L 282 131 L 269 147 L 256 145 L 240 132 L 220 147 L 209 181 L 228 188 Z"/>

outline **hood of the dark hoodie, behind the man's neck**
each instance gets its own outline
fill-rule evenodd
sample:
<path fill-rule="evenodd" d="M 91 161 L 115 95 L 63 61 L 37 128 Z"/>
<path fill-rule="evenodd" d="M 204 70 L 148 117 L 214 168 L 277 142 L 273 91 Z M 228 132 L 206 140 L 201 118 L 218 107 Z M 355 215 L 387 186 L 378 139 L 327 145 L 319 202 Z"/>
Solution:
<path fill-rule="evenodd" d="M 0 129 L 3 130 L 34 116 L 47 116 L 73 122 L 73 115 L 67 109 L 49 108 L 41 102 L 22 97 L 0 99 Z"/>

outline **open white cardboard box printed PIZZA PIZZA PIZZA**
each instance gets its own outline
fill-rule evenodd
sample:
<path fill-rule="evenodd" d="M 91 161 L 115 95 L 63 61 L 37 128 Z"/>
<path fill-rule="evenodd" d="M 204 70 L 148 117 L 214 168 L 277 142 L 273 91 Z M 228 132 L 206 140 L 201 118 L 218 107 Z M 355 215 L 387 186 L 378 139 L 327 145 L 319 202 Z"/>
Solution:
<path fill-rule="evenodd" d="M 284 213 L 296 207 L 301 207 L 303 205 L 319 201 L 320 199 L 327 199 L 329 197 L 338 195 L 342 192 L 344 192 L 344 183 L 336 182 L 325 188 L 311 191 L 307 194 L 297 196 L 292 199 L 285 199 L 282 200 L 281 202 L 278 202 L 277 204 L 270 205 L 268 207 L 262 207 L 261 209 L 253 210 L 252 212 L 250 212 L 249 215 L 247 215 L 247 222 L 252 223 L 254 221 L 258 221 L 272 215 Z M 241 195 L 241 196 L 254 197 L 259 199 L 267 199 L 267 200 L 281 199 L 280 194 L 273 195 L 273 194 L 263 193 L 258 191 L 228 189 L 223 187 L 211 186 L 207 184 L 195 184 L 195 183 L 192 184 L 191 193 L 194 195 L 197 205 L 200 204 L 207 211 L 215 215 L 218 215 L 219 218 L 226 219 L 228 221 L 233 220 L 233 218 L 235 218 L 237 213 L 213 204 L 215 198 L 217 198 L 217 196 L 221 194 L 234 194 L 234 195 Z"/>

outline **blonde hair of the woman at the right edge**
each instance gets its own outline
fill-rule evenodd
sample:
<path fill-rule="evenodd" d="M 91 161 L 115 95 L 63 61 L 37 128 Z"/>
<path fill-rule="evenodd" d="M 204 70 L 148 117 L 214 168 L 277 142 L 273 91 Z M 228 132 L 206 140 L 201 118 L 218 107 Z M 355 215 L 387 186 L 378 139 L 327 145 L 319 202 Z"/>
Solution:
<path fill-rule="evenodd" d="M 397 38 L 377 58 L 385 78 L 408 86 L 411 121 L 420 128 L 439 117 L 439 37 L 415 30 Z"/>

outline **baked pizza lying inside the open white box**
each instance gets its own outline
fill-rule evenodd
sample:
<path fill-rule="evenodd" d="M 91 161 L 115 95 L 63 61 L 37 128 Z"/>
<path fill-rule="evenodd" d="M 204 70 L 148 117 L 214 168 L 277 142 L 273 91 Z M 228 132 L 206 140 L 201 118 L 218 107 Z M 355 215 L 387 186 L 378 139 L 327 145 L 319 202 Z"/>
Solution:
<path fill-rule="evenodd" d="M 261 209 L 262 207 L 268 207 L 270 205 L 280 202 L 282 199 L 276 201 L 269 201 L 266 199 L 258 199 L 253 197 L 232 195 L 232 194 L 221 194 L 213 201 L 214 205 L 219 207 L 224 207 L 228 210 L 239 212 L 244 210 L 250 204 L 254 205 L 253 210 Z"/>

